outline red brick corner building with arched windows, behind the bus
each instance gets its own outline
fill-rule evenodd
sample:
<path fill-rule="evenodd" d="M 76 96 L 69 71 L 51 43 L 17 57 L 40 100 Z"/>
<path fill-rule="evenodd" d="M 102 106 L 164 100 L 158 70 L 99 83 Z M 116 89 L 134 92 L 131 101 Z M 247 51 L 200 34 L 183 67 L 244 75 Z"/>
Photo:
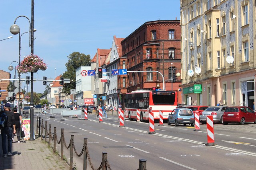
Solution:
<path fill-rule="evenodd" d="M 180 88 L 180 77 L 176 82 L 170 81 L 180 72 L 180 20 L 148 21 L 126 37 L 121 45 L 122 58 L 126 58 L 127 71 L 131 71 L 126 81 L 128 93 L 141 88 L 164 88 L 159 73 L 134 71 L 161 72 L 166 90 Z"/>

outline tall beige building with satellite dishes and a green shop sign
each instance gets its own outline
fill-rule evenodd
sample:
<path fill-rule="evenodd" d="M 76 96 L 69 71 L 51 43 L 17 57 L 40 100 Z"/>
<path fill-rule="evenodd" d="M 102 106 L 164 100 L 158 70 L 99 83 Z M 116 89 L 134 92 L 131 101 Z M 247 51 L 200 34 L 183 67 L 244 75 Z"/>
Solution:
<path fill-rule="evenodd" d="M 252 0 L 180 0 L 185 104 L 252 107 L 255 5 Z"/>

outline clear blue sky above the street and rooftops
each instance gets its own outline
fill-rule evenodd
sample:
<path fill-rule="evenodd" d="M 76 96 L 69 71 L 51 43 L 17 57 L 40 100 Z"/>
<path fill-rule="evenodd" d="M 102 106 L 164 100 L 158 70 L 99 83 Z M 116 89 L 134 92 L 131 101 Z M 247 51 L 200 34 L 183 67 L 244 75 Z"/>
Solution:
<path fill-rule="evenodd" d="M 10 33 L 10 26 L 18 16 L 31 20 L 31 0 L 0 0 L 0 70 L 8 70 L 12 61 L 19 61 L 18 35 Z M 34 54 L 44 60 L 48 68 L 34 73 L 54 79 L 66 71 L 65 64 L 73 52 L 90 55 L 97 49 L 110 49 L 114 35 L 126 38 L 147 21 L 180 20 L 179 0 L 34 0 Z M 25 17 L 16 20 L 20 33 L 29 31 Z M 21 61 L 30 54 L 29 33 L 21 37 Z M 12 66 L 17 66 L 16 62 Z M 30 76 L 21 74 L 21 78 Z M 22 82 L 21 88 L 27 87 Z M 43 93 L 42 81 L 34 82 L 34 92 Z M 28 86 L 30 91 L 30 86 Z"/>

